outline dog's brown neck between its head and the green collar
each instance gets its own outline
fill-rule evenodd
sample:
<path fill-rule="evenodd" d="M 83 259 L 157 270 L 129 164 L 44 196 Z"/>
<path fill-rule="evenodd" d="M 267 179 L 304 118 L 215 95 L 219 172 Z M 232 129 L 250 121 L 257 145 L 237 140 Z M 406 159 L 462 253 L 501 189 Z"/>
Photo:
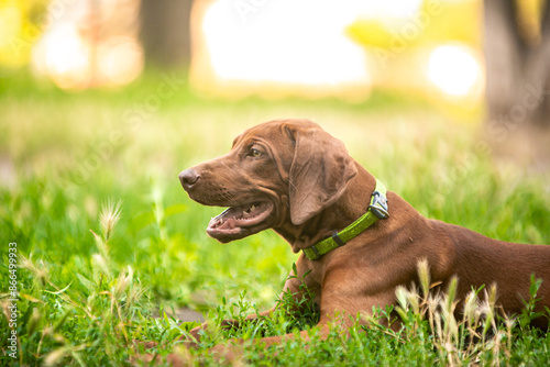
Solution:
<path fill-rule="evenodd" d="M 355 166 L 358 174 L 350 179 L 342 196 L 332 205 L 300 225 L 285 221 L 286 224 L 274 229 L 290 244 L 294 253 L 342 231 L 366 212 L 376 179 L 358 163 Z"/>

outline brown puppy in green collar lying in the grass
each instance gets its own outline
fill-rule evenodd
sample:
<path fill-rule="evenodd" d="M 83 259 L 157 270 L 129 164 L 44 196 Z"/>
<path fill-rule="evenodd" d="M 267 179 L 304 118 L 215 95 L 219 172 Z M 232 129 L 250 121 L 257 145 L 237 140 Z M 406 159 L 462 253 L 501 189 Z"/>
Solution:
<path fill-rule="evenodd" d="M 458 299 L 472 287 L 496 283 L 507 313 L 522 311 L 535 274 L 543 280 L 536 311 L 550 307 L 550 246 L 501 242 L 426 219 L 392 191 L 386 205 L 385 189 L 314 122 L 260 124 L 238 136 L 229 154 L 182 171 L 179 179 L 199 203 L 230 207 L 210 221 L 213 238 L 226 243 L 273 229 L 295 253 L 304 252 L 284 290 L 301 299 L 300 279 L 310 271 L 304 281 L 316 294 L 323 335 L 337 312 L 355 316 L 395 304 L 397 286 L 418 283 L 420 259 L 443 288 L 458 276 Z M 534 324 L 546 329 L 548 319 Z M 195 337 L 200 327 L 191 331 Z"/>

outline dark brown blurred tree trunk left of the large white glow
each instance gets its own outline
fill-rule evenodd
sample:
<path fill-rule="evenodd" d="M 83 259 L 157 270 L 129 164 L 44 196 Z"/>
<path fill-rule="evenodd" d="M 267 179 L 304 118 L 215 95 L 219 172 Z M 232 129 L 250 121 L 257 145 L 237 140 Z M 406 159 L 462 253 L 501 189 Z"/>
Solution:
<path fill-rule="evenodd" d="M 140 18 L 145 63 L 189 66 L 193 0 L 141 0 Z"/>

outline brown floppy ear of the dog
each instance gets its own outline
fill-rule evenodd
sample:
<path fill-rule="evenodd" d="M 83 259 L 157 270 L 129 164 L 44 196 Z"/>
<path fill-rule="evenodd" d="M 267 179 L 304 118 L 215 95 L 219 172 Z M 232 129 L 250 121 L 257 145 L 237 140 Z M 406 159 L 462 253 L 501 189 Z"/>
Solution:
<path fill-rule="evenodd" d="M 358 169 L 342 142 L 320 127 L 297 129 L 289 173 L 290 220 L 299 225 L 334 203 Z"/>

